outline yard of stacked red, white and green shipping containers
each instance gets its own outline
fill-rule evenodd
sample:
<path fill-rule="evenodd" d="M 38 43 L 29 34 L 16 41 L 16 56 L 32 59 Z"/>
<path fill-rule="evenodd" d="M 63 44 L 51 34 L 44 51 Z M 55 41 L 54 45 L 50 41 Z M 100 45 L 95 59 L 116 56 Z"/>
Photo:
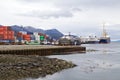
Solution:
<path fill-rule="evenodd" d="M 28 34 L 25 31 L 15 32 L 9 26 L 0 26 L 0 44 L 27 44 L 38 45 L 46 41 L 48 36 L 43 33 L 34 32 Z M 47 41 L 48 42 L 48 41 Z"/>

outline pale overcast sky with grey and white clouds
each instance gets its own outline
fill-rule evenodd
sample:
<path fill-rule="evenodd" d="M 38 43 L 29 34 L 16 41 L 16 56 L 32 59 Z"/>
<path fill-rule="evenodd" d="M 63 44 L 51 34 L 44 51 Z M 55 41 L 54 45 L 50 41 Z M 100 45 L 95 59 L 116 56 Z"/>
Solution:
<path fill-rule="evenodd" d="M 120 0 L 0 0 L 0 24 L 120 39 Z"/>

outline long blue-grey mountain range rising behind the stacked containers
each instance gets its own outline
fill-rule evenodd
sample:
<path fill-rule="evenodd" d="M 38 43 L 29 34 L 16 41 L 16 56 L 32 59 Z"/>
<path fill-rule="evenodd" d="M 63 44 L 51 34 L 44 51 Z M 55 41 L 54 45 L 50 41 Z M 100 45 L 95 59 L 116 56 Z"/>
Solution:
<path fill-rule="evenodd" d="M 53 39 L 59 39 L 60 37 L 63 36 L 63 34 L 60 31 L 58 31 L 57 29 L 43 30 L 43 29 L 36 29 L 34 27 L 31 27 L 31 26 L 23 27 L 23 26 L 18 26 L 18 25 L 13 25 L 10 27 L 15 32 L 25 31 L 28 34 L 32 34 L 34 32 L 40 32 L 40 33 L 49 35 Z"/>

